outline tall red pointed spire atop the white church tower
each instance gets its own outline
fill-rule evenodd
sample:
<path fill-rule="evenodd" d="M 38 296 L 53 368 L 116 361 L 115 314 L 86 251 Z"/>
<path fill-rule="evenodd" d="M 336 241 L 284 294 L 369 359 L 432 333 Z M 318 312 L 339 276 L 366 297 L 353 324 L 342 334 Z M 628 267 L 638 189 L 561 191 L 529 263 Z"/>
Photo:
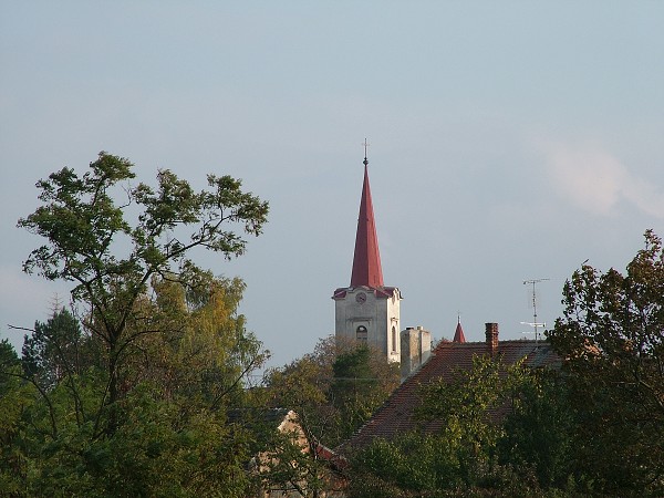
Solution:
<path fill-rule="evenodd" d="M 353 258 L 353 273 L 351 287 L 366 286 L 371 288 L 383 287 L 383 270 L 381 268 L 381 253 L 378 252 L 378 236 L 373 216 L 371 189 L 369 187 L 369 160 L 364 156 L 364 185 L 362 186 L 362 200 L 360 201 L 360 217 L 357 218 L 357 235 L 355 236 L 355 256 Z"/>

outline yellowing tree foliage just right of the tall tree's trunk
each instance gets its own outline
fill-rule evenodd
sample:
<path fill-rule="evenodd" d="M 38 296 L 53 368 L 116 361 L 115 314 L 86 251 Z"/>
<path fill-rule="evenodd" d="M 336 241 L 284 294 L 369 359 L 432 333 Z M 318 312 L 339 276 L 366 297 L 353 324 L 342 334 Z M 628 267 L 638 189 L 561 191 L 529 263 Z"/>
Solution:
<path fill-rule="evenodd" d="M 143 354 L 127 360 L 123 385 L 151 382 L 162 396 L 187 400 L 191 408 L 239 402 L 247 374 L 269 354 L 237 314 L 243 288 L 239 279 L 209 272 L 198 272 L 189 291 L 168 278 L 153 279 L 152 298 L 139 302 L 142 320 L 131 323 L 139 328 L 136 346 Z"/>

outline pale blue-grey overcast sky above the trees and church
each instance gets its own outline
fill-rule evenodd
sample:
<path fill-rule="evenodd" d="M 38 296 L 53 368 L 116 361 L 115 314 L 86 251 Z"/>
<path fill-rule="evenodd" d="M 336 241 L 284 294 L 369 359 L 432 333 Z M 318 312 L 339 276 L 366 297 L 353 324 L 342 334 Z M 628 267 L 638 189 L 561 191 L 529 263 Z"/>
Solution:
<path fill-rule="evenodd" d="M 362 142 L 402 325 L 504 339 L 561 313 L 589 259 L 664 235 L 664 2 L 0 0 L 0 339 L 69 287 L 25 276 L 34 183 L 100 151 L 205 186 L 242 178 L 264 235 L 227 262 L 281 365 L 334 330 Z"/>

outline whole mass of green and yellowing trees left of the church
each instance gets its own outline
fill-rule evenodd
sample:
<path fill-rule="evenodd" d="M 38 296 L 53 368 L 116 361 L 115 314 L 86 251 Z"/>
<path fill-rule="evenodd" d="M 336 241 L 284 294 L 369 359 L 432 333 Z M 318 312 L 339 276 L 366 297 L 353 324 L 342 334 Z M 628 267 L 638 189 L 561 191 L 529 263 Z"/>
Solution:
<path fill-rule="evenodd" d="M 56 310 L 38 322 L 22 362 L 0 347 L 6 495 L 245 497 L 258 489 L 249 463 L 266 438 L 227 414 L 260 402 L 248 374 L 268 353 L 237 313 L 243 283 L 203 271 L 189 253 L 242 253 L 246 240 L 234 227 L 260 234 L 267 204 L 230 177 L 209 176 L 211 189 L 195 193 L 160 172 L 153 190 L 131 186 L 131 169 L 101 153 L 81 177 L 54 173 L 38 183 L 44 205 L 19 220 L 46 239 L 24 270 L 73 281 L 83 320 Z"/>

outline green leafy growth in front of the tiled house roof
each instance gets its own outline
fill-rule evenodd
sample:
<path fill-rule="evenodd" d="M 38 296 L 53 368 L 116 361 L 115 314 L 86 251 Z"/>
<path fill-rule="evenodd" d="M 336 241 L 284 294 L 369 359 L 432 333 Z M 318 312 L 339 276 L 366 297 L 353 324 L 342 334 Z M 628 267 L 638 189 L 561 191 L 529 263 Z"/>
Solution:
<path fill-rule="evenodd" d="M 567 426 L 537 426 L 567 422 L 562 397 L 549 394 L 553 375 L 476 356 L 470 370 L 423 386 L 416 415 L 439 422 L 439 432 L 415 429 L 357 450 L 349 496 L 564 496 L 569 437 L 558 430 Z"/>

